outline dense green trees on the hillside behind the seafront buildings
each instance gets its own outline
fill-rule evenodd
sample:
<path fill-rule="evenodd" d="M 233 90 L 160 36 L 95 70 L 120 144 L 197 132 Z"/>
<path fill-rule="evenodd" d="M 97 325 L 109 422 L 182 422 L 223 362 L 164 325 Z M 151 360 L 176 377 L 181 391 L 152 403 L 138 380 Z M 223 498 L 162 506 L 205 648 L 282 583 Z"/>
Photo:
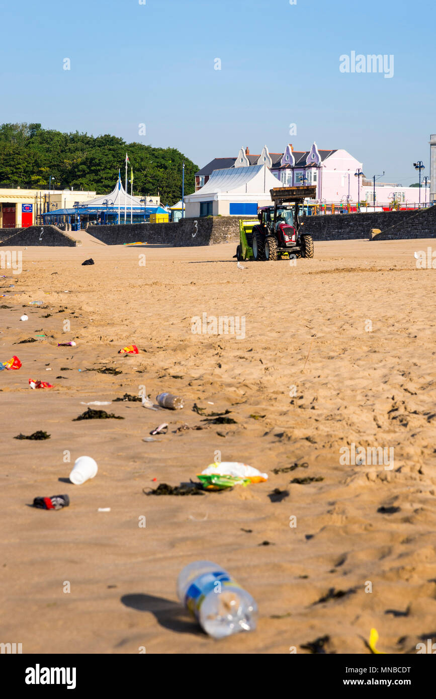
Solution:
<path fill-rule="evenodd" d="M 1 124 L 0 187 L 82 189 L 97 194 L 111 192 L 121 169 L 125 185 L 125 158 L 129 154 L 128 178 L 133 167 L 133 194 L 159 194 L 173 206 L 184 193 L 194 192 L 198 166 L 176 148 L 155 148 L 126 143 L 117 136 L 89 136 L 78 131 L 64 134 L 43 129 L 41 124 Z M 130 182 L 128 192 L 130 193 Z"/>

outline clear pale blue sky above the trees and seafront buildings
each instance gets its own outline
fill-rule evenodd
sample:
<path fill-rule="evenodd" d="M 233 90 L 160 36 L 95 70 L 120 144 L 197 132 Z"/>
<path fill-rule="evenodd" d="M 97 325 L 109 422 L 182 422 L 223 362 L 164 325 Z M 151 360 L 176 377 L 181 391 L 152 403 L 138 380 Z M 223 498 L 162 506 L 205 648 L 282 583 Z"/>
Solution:
<path fill-rule="evenodd" d="M 436 133 L 433 7 L 430 0 L 8 3 L 1 122 L 173 146 L 199 166 L 241 146 L 309 150 L 315 140 L 349 150 L 368 177 L 385 171 L 384 180 L 408 185 L 417 181 L 417 159 L 430 174 L 428 140 Z M 340 56 L 351 51 L 393 55 L 393 78 L 340 73 Z"/>

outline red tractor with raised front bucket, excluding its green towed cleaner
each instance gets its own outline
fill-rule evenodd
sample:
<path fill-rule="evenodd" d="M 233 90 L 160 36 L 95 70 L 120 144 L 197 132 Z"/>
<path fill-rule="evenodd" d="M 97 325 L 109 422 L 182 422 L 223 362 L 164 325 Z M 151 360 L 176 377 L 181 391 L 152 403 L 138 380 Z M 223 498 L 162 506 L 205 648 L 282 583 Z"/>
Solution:
<path fill-rule="evenodd" d="M 314 199 L 316 191 L 316 187 L 270 189 L 274 206 L 259 208 L 259 224 L 253 226 L 250 236 L 255 260 L 314 256 L 312 236 L 302 232 L 298 210 L 305 199 Z"/>

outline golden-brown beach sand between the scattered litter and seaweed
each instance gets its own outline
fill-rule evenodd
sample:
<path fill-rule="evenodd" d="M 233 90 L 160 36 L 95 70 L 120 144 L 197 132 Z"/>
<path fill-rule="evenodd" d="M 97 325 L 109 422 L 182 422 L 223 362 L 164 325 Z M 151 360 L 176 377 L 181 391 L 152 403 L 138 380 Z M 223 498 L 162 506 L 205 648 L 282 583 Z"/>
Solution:
<path fill-rule="evenodd" d="M 414 260 L 433 241 L 317 243 L 315 259 L 296 267 L 239 270 L 234 245 L 106 247 L 80 237 L 78 248 L 23 250 L 20 275 L 1 271 L 1 293 L 17 296 L 0 300 L 9 306 L 0 359 L 17 354 L 23 365 L 0 374 L 1 641 L 22 642 L 24 653 L 283 654 L 328 635 L 328 651 L 360 654 L 373 626 L 388 653 L 436 640 L 436 273 Z M 87 257 L 94 266 L 81 266 Z M 45 308 L 27 305 L 38 299 Z M 245 339 L 194 335 L 191 317 L 203 312 L 244 316 Z M 38 333 L 48 337 L 14 344 Z M 77 347 L 57 347 L 68 340 Z M 138 356 L 117 354 L 131 343 Z M 122 374 L 84 371 L 102 366 Z M 54 388 L 32 391 L 29 378 Z M 187 405 L 158 413 L 112 403 L 106 410 L 124 420 L 73 421 L 82 402 L 141 386 Z M 231 410 L 236 424 L 175 433 L 205 424 L 194 403 Z M 143 442 L 166 420 L 168 434 Z M 50 440 L 13 439 L 40 429 Z M 351 442 L 393 447 L 393 469 L 342 466 Z M 143 494 L 195 480 L 216 450 L 267 471 L 268 482 Z M 83 454 L 99 473 L 73 486 L 68 473 Z M 308 468 L 272 473 L 295 463 Z M 289 496 L 271 502 L 275 488 Z M 71 506 L 27 506 L 57 493 Z M 256 632 L 215 642 L 198 630 L 175 595 L 178 572 L 196 559 L 224 566 L 254 595 Z M 318 603 L 330 589 L 347 594 Z"/>

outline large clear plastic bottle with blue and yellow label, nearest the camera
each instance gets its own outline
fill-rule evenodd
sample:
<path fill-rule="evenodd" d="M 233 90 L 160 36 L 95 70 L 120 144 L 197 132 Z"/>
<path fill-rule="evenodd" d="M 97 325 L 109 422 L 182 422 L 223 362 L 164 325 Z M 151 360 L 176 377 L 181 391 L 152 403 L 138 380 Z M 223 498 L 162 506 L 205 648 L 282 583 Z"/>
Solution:
<path fill-rule="evenodd" d="M 177 595 L 213 638 L 256 628 L 256 602 L 216 563 L 189 563 L 177 579 Z"/>

